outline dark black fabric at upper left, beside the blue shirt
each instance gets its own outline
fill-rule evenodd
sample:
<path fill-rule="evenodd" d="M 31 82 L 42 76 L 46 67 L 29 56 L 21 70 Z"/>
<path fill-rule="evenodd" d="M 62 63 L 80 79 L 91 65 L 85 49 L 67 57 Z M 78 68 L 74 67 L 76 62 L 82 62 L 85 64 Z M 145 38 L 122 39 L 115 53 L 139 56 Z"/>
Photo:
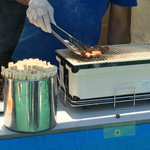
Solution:
<path fill-rule="evenodd" d="M 22 32 L 27 7 L 0 0 L 0 66 L 7 66 Z"/>

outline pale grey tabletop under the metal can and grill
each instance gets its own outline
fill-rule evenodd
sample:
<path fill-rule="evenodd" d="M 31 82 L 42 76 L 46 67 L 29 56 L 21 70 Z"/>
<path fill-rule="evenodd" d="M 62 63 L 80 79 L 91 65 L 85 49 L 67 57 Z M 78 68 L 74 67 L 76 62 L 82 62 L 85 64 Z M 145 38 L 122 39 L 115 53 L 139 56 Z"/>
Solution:
<path fill-rule="evenodd" d="M 116 118 L 116 114 L 120 118 Z M 58 101 L 57 125 L 50 130 L 37 133 L 20 133 L 6 128 L 4 125 L 4 114 L 0 114 L 0 139 L 37 136 L 44 134 L 71 132 L 78 130 L 89 130 L 103 128 L 104 125 L 135 122 L 135 124 L 149 123 L 150 101 L 140 101 L 135 107 L 124 106 L 113 108 L 113 105 L 99 105 L 88 108 L 66 107 Z"/>

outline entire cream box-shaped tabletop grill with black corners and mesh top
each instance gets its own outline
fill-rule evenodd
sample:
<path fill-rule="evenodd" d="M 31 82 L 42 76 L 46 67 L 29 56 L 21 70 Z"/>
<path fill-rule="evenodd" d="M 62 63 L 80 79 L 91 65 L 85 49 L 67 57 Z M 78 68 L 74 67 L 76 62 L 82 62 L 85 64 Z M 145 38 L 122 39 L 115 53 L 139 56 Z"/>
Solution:
<path fill-rule="evenodd" d="M 56 50 L 60 87 L 72 107 L 150 99 L 150 44 L 109 46 L 99 58 L 83 58 L 69 49 Z"/>

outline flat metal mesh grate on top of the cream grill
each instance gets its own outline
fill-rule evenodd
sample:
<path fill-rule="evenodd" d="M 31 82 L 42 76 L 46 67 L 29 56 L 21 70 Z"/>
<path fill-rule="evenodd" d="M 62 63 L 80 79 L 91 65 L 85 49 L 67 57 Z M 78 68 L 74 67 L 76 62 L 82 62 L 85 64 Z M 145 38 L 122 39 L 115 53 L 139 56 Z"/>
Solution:
<path fill-rule="evenodd" d="M 150 60 L 150 44 L 123 44 L 108 47 L 109 52 L 99 58 L 80 57 L 69 49 L 57 50 L 56 53 L 73 65 Z"/>

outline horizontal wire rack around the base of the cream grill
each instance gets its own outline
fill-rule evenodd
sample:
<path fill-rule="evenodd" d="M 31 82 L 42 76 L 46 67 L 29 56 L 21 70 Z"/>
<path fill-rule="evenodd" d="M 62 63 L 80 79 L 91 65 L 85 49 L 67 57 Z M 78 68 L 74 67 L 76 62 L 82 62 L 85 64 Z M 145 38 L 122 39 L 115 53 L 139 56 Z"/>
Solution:
<path fill-rule="evenodd" d="M 64 106 L 66 106 L 66 104 L 68 103 L 71 107 L 83 107 L 83 106 L 94 106 L 94 105 L 105 105 L 105 104 L 113 104 L 113 106 L 115 106 L 117 103 L 133 102 L 132 108 L 134 108 L 136 102 L 150 100 L 150 92 L 149 93 L 133 92 L 133 94 L 130 94 L 130 95 L 119 95 L 119 96 L 116 96 L 118 99 L 117 102 L 115 101 L 114 96 L 103 97 L 103 98 L 101 98 L 101 97 L 100 98 L 91 98 L 91 99 L 84 99 L 84 100 L 81 99 L 81 100 L 75 101 L 75 100 L 72 100 L 69 95 L 67 95 L 64 91 L 62 91 L 60 89 L 59 89 L 59 95 L 61 95 L 60 100 L 64 104 Z M 114 108 L 116 109 L 116 107 L 114 107 Z M 127 107 L 125 107 L 125 108 L 127 108 Z"/>

